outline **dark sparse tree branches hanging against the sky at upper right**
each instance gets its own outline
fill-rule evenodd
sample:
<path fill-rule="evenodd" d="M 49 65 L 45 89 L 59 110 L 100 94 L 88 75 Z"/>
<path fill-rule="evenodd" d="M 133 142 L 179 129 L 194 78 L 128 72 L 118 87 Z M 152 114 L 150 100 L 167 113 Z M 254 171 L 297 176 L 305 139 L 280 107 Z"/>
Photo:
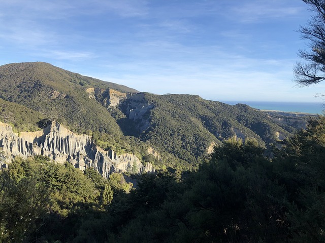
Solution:
<path fill-rule="evenodd" d="M 318 84 L 325 80 L 325 1 L 303 0 L 309 10 L 315 12 L 306 26 L 298 32 L 302 39 L 309 40 L 310 50 L 300 50 L 298 55 L 307 61 L 297 62 L 294 67 L 295 81 L 301 86 Z"/>

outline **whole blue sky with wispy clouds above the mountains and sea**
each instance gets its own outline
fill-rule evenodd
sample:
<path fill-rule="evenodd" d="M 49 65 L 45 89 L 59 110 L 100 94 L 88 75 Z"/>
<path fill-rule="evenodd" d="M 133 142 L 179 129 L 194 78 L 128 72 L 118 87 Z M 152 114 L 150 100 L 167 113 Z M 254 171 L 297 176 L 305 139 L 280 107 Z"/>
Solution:
<path fill-rule="evenodd" d="M 155 94 L 318 102 L 295 87 L 300 0 L 0 0 L 0 65 L 44 61 Z"/>

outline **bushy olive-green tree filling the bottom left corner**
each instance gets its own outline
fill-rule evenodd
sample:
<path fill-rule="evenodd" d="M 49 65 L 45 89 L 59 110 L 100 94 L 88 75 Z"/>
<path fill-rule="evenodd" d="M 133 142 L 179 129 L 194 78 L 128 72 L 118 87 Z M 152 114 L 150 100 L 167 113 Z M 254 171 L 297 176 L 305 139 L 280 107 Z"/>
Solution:
<path fill-rule="evenodd" d="M 15 158 L 0 171 L 0 242 L 27 242 L 43 224 L 51 189 L 42 180 L 44 167 L 35 163 L 39 159 Z"/>

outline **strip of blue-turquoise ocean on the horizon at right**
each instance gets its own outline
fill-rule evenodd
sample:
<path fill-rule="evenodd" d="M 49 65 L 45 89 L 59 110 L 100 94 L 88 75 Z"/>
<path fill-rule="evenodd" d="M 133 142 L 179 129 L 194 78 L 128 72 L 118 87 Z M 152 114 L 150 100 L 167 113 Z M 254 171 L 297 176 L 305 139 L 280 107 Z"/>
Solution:
<path fill-rule="evenodd" d="M 319 102 L 267 102 L 267 101 L 220 101 L 229 105 L 238 103 L 249 105 L 260 110 L 279 110 L 286 112 L 302 112 L 311 114 L 323 114 L 324 103 Z"/>

